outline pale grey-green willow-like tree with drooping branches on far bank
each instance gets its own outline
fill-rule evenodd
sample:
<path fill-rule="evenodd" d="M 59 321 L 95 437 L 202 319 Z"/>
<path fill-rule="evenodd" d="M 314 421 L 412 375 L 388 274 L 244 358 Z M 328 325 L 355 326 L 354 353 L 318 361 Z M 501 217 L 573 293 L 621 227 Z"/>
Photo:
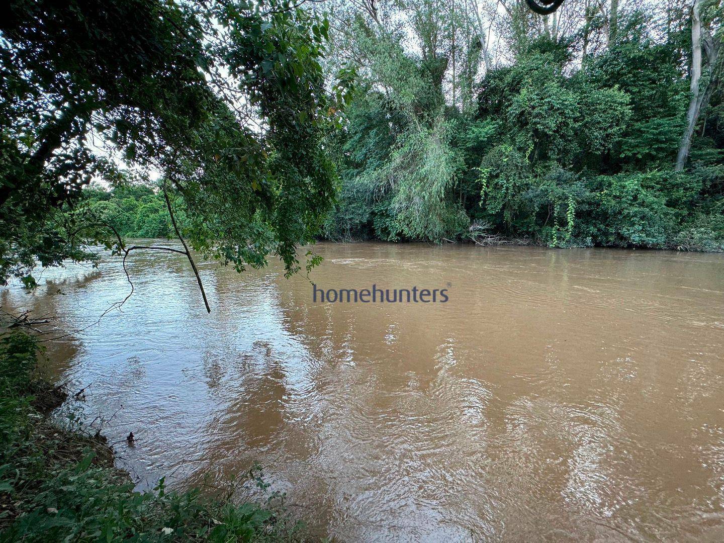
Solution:
<path fill-rule="evenodd" d="M 337 14 L 333 60 L 352 58 L 366 92 L 355 94 L 349 123 L 335 136 L 343 188 L 336 216 L 347 226 L 327 231 L 371 230 L 386 240 L 455 237 L 468 219 L 456 194 L 464 164 L 453 147 L 452 110 L 458 96 L 472 103 L 481 51 L 479 38 L 466 32 L 474 28 L 472 14 L 443 9 L 439 0 L 384 2 L 375 13 L 347 7 Z M 462 77 L 455 71 L 459 43 L 470 46 Z M 366 211 L 345 193 L 353 178 Z M 352 216 L 362 224 L 349 227 Z"/>

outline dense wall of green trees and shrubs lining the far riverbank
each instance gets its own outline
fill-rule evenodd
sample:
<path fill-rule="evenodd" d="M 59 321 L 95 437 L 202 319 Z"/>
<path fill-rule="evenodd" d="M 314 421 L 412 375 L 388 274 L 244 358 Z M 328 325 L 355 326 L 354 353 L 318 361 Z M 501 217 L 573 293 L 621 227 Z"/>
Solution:
<path fill-rule="evenodd" d="M 720 4 L 702 4 L 717 48 Z M 675 171 L 690 5 L 622 7 L 614 21 L 613 4 L 586 3 L 582 18 L 567 1 L 544 18 L 521 2 L 487 26 L 468 5 L 335 12 L 339 62 L 355 59 L 361 82 L 331 140 L 342 190 L 329 238 L 724 248 L 722 55 L 709 57 L 708 105 Z"/>

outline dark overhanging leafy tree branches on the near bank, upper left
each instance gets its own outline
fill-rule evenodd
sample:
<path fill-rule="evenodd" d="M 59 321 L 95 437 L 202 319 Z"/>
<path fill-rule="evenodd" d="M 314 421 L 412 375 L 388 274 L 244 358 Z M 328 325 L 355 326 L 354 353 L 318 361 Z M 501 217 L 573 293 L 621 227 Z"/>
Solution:
<path fill-rule="evenodd" d="M 334 194 L 321 148 L 344 86 L 328 23 L 289 0 L 12 0 L 0 22 L 0 285 L 114 240 L 90 180 L 149 176 L 205 256 L 287 271 Z M 344 79 L 344 77 L 342 78 Z M 334 90 L 334 92 L 332 92 Z"/>

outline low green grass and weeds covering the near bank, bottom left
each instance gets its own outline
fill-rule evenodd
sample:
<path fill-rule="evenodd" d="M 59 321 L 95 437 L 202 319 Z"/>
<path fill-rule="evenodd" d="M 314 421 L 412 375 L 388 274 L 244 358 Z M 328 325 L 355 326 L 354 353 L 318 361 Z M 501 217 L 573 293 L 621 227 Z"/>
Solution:
<path fill-rule="evenodd" d="M 167 491 L 163 479 L 135 492 L 103 437 L 50 421 L 66 395 L 38 376 L 38 352 L 23 332 L 0 337 L 0 542 L 302 539 L 274 496 L 237 504 L 232 492 Z"/>

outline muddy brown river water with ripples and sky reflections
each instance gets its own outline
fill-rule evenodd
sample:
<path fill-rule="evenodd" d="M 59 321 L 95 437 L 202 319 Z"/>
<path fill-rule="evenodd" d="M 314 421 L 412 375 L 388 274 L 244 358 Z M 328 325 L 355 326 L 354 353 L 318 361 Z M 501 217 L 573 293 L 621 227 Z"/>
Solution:
<path fill-rule="evenodd" d="M 447 303 L 315 303 L 272 263 L 138 252 L 123 312 L 49 345 L 139 486 L 271 490 L 339 541 L 723 541 L 724 256 L 319 244 L 324 289 Z M 6 308 L 90 324 L 117 261 L 46 272 Z M 135 447 L 127 447 L 132 431 Z"/>

